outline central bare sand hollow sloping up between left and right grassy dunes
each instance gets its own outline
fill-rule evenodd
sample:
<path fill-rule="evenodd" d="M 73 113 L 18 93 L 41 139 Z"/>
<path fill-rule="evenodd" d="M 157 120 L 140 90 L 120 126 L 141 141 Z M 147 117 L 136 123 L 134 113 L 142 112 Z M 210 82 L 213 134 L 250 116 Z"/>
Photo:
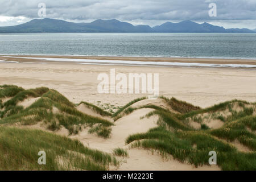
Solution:
<path fill-rule="evenodd" d="M 112 126 L 111 137 L 108 139 L 97 137 L 95 134 L 89 134 L 88 130 L 82 130 L 77 135 L 72 135 L 71 138 L 80 140 L 85 146 L 90 148 L 97 148 L 105 152 L 112 152 L 114 148 L 124 147 L 125 140 L 131 134 L 144 133 L 152 127 L 158 126 L 157 116 L 150 118 L 140 119 L 143 115 L 146 115 L 154 109 L 139 109 L 133 111 L 133 113 L 126 115 L 114 122 Z"/>

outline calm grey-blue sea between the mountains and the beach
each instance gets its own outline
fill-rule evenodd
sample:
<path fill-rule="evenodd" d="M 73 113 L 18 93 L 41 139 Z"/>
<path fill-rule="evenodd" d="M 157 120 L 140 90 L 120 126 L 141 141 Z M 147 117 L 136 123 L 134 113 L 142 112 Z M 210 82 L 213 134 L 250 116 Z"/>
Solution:
<path fill-rule="evenodd" d="M 0 54 L 256 59 L 256 34 L 0 34 Z"/>

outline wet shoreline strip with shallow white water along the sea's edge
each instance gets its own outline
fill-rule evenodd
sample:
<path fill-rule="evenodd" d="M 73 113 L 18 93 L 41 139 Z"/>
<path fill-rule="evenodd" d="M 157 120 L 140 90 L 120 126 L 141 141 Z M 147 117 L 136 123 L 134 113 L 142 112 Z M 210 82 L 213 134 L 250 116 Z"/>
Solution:
<path fill-rule="evenodd" d="M 181 57 L 0 55 L 1 63 L 80 63 L 93 65 L 256 68 L 256 60 Z M 46 63 L 44 63 L 46 64 Z"/>

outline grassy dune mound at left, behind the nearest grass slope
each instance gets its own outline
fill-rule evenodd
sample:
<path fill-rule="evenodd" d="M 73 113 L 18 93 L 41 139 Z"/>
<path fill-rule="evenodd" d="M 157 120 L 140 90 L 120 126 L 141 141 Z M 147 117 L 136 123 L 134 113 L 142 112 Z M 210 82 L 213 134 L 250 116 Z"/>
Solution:
<path fill-rule="evenodd" d="M 51 130 L 57 130 L 60 126 L 64 126 L 70 134 L 79 133 L 82 125 L 92 127 L 95 124 L 100 124 L 101 129 L 108 129 L 113 125 L 106 119 L 81 113 L 72 102 L 56 90 L 48 88 L 16 90 L 16 87 L 7 85 L 1 89 L 1 98 L 11 95 L 13 98 L 1 105 L 0 124 L 19 122 L 23 125 L 34 125 L 43 121 Z M 16 94 L 14 94 L 15 92 Z M 40 98 L 26 109 L 17 105 L 19 101 L 28 97 Z"/>

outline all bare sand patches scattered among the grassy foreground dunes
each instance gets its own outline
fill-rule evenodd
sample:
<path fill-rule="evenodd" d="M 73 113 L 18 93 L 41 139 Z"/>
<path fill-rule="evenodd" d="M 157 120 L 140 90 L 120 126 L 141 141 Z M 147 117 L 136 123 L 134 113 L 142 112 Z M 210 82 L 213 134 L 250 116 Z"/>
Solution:
<path fill-rule="evenodd" d="M 33 103 L 32 101 L 36 100 L 38 100 L 38 98 L 28 98 L 22 102 L 19 102 L 18 105 L 28 107 Z M 160 98 L 156 100 L 142 100 L 135 102 L 130 107 L 135 108 L 145 105 L 156 105 L 162 107 L 163 109 L 172 110 L 171 107 L 168 106 L 166 102 Z M 86 105 L 81 104 L 77 106 L 77 109 L 85 114 L 102 118 L 100 114 L 97 114 L 94 110 L 86 107 Z M 218 166 L 214 165 L 199 166 L 195 168 L 191 164 L 181 163 L 178 160 L 173 159 L 171 155 L 167 156 L 167 158 L 163 158 L 157 152 L 147 151 L 139 148 L 131 148 L 130 144 L 126 144 L 125 141 L 129 135 L 145 133 L 149 129 L 158 126 L 158 116 L 153 115 L 150 118 L 142 118 L 144 115 L 150 113 L 150 111 L 153 110 L 154 109 L 149 108 L 134 110 L 132 113 L 117 119 L 115 122 L 110 117 L 103 117 L 104 119 L 108 119 L 109 121 L 114 122 L 114 126 L 112 126 L 111 137 L 107 139 L 98 137 L 96 134 L 88 133 L 88 129 L 82 130 L 77 135 L 69 135 L 68 130 L 64 127 L 61 127 L 60 130 L 54 131 L 54 133 L 65 135 L 72 139 L 78 139 L 89 148 L 96 148 L 110 154 L 112 154 L 113 149 L 117 147 L 127 150 L 129 156 L 127 158 L 119 158 L 122 161 L 121 165 L 119 168 L 110 168 L 112 170 L 220 170 Z M 21 128 L 49 131 L 46 129 L 46 126 L 43 122 L 36 123 L 36 125 L 32 126 L 24 126 L 19 124 L 16 124 L 16 126 Z"/>

